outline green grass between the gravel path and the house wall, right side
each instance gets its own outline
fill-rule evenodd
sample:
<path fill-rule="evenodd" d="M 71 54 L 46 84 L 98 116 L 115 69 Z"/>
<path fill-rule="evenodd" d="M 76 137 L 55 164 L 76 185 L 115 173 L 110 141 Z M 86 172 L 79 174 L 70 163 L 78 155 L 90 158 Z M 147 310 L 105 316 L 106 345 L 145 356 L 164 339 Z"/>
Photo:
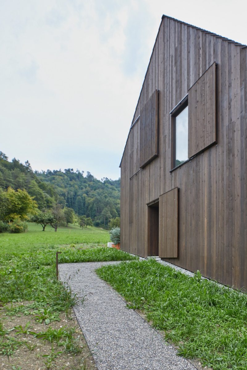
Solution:
<path fill-rule="evenodd" d="M 156 261 L 103 266 L 98 275 L 143 310 L 156 329 L 214 370 L 247 369 L 247 296 Z"/>

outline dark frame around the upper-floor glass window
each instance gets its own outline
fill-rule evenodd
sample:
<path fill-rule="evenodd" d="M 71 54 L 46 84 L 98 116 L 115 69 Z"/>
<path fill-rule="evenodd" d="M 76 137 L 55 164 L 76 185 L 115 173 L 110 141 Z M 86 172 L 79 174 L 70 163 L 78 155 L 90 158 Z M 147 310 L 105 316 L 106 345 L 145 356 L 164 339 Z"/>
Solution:
<path fill-rule="evenodd" d="M 186 108 L 188 107 L 188 94 L 178 102 L 178 104 L 170 111 L 171 115 L 171 171 L 174 169 L 179 168 L 184 163 L 188 162 L 190 158 L 188 158 L 183 163 L 180 163 L 178 166 L 176 164 L 176 117 Z"/>

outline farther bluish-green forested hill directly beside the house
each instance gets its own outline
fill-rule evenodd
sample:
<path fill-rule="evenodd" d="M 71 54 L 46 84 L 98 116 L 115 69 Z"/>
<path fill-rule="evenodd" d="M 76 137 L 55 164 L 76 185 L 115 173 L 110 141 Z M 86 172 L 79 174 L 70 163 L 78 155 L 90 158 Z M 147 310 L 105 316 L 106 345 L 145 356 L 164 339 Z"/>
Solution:
<path fill-rule="evenodd" d="M 77 215 L 91 217 L 95 226 L 106 223 L 109 218 L 120 216 L 120 179 L 97 180 L 90 172 L 64 171 L 35 172 L 38 179 L 54 186 L 59 202 L 73 208 Z"/>

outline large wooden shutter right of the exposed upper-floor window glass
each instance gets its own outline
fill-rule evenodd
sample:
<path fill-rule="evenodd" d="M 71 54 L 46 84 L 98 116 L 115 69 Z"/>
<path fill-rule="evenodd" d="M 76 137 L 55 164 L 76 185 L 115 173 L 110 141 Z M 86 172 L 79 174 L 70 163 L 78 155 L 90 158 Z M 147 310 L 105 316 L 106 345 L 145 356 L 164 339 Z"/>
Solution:
<path fill-rule="evenodd" d="M 216 63 L 188 91 L 188 157 L 216 142 Z"/>

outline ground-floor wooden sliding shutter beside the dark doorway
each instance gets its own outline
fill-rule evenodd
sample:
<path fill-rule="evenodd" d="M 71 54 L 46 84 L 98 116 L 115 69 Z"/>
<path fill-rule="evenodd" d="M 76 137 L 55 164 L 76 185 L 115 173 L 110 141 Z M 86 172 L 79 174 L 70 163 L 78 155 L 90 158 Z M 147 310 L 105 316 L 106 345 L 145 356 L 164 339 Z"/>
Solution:
<path fill-rule="evenodd" d="M 177 258 L 178 243 L 178 188 L 159 197 L 160 258 Z"/>

